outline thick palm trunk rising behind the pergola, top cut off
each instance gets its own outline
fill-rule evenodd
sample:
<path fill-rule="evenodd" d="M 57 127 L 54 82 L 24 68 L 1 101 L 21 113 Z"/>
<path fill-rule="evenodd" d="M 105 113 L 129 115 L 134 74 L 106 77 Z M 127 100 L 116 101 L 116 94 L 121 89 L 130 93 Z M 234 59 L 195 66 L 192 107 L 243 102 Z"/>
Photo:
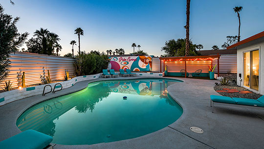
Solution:
<path fill-rule="evenodd" d="M 186 25 L 185 25 L 185 29 L 186 29 L 185 55 L 186 55 L 186 56 L 189 55 L 189 51 L 190 51 L 190 40 L 189 40 L 189 27 L 190 27 L 190 1 L 191 1 L 191 0 L 187 0 L 187 3 L 186 3 Z"/>

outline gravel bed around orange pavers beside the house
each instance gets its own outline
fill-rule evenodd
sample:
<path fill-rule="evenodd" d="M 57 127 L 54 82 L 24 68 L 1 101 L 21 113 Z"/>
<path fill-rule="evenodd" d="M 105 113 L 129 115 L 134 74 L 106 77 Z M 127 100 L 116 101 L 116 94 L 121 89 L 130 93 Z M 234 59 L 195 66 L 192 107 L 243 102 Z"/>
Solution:
<path fill-rule="evenodd" d="M 216 91 L 223 90 L 224 88 L 237 89 L 238 91 L 250 91 L 238 85 L 216 85 L 214 87 Z M 219 92 L 219 94 L 222 96 L 227 96 L 227 97 L 245 98 L 245 99 L 258 99 L 262 96 L 261 94 L 257 94 L 254 92 L 247 93 L 247 94 Z"/>

